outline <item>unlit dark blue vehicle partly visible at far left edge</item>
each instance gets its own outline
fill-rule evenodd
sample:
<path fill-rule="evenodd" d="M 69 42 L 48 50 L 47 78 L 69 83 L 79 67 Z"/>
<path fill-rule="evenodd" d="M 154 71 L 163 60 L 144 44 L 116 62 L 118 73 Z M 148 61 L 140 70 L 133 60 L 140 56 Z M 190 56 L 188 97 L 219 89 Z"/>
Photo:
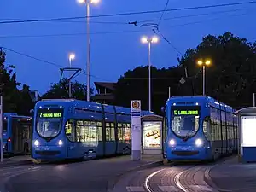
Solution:
<path fill-rule="evenodd" d="M 3 113 L 3 154 L 28 154 L 31 148 L 32 118 Z"/>

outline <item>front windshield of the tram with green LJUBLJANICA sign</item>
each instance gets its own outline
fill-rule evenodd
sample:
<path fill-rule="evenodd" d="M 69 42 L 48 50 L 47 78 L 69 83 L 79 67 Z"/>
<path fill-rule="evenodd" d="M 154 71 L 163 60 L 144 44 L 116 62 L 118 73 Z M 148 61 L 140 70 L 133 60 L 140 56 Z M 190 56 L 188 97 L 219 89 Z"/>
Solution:
<path fill-rule="evenodd" d="M 192 137 L 199 129 L 200 107 L 172 108 L 172 131 L 178 137 Z"/>

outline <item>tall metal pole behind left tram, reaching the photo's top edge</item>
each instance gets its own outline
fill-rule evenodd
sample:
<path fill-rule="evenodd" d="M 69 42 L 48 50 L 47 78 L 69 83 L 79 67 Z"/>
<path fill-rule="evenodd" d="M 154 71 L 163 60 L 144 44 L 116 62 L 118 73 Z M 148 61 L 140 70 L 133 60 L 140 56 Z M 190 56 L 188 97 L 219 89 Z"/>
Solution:
<path fill-rule="evenodd" d="M 87 7 L 87 65 L 86 65 L 86 75 L 87 75 L 87 102 L 90 102 L 90 3 L 86 1 Z"/>

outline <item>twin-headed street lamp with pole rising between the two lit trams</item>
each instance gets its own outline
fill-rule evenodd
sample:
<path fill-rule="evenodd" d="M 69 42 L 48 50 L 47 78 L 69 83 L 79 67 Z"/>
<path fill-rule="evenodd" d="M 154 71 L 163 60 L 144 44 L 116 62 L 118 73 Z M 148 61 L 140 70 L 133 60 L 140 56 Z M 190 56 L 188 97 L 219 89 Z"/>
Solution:
<path fill-rule="evenodd" d="M 150 55 L 151 55 L 151 44 L 156 44 L 159 41 L 159 39 L 154 36 L 152 38 L 143 37 L 141 38 L 141 42 L 143 44 L 148 44 L 148 111 L 151 112 L 151 61 L 150 61 Z"/>

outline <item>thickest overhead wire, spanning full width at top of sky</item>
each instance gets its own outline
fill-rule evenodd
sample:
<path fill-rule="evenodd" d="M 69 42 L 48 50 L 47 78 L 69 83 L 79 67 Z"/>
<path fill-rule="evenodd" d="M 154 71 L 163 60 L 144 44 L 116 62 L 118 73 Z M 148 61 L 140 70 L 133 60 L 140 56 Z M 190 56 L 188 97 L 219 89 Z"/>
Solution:
<path fill-rule="evenodd" d="M 117 14 L 108 14 L 108 15 L 91 15 L 90 18 L 102 18 L 102 17 L 125 16 L 125 15 L 144 15 L 144 14 L 162 13 L 163 11 L 171 12 L 171 11 L 182 11 L 182 10 L 192 10 L 192 9 L 208 9 L 208 8 L 229 7 L 229 6 L 252 4 L 252 3 L 256 3 L 256 1 L 240 2 L 240 3 L 213 4 L 213 5 L 204 5 L 204 6 L 195 6 L 195 7 L 187 7 L 187 8 L 177 8 L 177 9 L 166 9 L 166 10 L 151 10 L 151 11 L 149 10 L 149 11 L 139 11 L 139 12 L 117 13 Z M 77 19 L 84 19 L 84 18 L 87 18 L 87 16 L 60 17 L 60 18 L 33 19 L 33 20 L 8 20 L 8 21 L 0 21 L 0 24 L 46 22 L 46 21 L 53 21 L 53 20 L 77 20 Z"/>

